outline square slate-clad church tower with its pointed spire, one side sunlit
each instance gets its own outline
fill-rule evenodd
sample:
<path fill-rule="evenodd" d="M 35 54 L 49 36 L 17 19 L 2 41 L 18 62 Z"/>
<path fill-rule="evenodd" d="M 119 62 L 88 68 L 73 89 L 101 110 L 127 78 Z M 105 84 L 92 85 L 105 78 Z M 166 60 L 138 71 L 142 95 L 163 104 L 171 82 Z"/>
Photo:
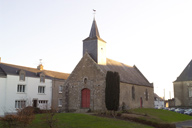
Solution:
<path fill-rule="evenodd" d="M 83 55 L 88 53 L 96 63 L 106 65 L 106 42 L 100 38 L 95 18 L 89 37 L 83 40 Z"/>

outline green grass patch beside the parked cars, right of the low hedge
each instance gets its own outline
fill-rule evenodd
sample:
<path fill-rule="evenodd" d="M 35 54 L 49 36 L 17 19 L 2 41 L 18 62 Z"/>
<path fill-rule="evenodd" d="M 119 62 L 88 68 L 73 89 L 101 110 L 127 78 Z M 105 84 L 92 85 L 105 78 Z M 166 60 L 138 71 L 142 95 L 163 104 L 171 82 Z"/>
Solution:
<path fill-rule="evenodd" d="M 176 112 L 162 110 L 162 109 L 150 109 L 150 108 L 142 108 L 142 109 L 131 109 L 129 110 L 131 113 L 147 115 L 146 118 L 142 118 L 145 120 L 150 120 L 154 122 L 162 122 L 162 123 L 174 123 L 180 121 L 191 120 L 192 116 L 179 114 Z"/>

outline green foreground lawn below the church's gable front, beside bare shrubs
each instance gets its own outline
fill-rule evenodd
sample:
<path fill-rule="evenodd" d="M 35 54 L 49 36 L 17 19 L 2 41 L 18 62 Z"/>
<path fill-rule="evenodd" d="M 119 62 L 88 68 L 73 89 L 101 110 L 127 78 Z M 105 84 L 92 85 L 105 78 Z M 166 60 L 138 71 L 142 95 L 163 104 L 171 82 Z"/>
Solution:
<path fill-rule="evenodd" d="M 41 119 L 42 115 L 37 114 L 29 128 L 48 128 Z M 59 113 L 56 118 L 58 119 L 58 128 L 152 128 L 129 121 L 79 113 Z"/>

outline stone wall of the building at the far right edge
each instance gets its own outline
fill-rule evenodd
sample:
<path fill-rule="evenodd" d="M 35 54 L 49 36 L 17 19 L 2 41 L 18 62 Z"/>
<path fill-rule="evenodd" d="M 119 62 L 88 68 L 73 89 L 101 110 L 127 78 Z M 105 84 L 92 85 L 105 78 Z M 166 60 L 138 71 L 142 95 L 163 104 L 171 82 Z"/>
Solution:
<path fill-rule="evenodd" d="M 192 81 L 174 82 L 174 98 L 177 107 L 192 107 L 192 96 L 189 96 L 189 89 L 192 88 Z"/>

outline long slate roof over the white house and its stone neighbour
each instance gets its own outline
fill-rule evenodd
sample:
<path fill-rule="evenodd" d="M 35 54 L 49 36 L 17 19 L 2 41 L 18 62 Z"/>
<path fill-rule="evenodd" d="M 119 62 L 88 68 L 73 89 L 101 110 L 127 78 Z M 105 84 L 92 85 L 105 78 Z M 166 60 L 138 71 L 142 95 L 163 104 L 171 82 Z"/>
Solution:
<path fill-rule="evenodd" d="M 25 75 L 28 77 L 39 77 L 40 73 L 44 73 L 46 78 L 52 79 L 67 79 L 70 74 L 55 72 L 50 70 L 38 70 L 36 68 L 24 67 L 19 65 L 0 63 L 0 76 L 6 75 L 18 75 L 20 70 L 25 71 Z"/>

